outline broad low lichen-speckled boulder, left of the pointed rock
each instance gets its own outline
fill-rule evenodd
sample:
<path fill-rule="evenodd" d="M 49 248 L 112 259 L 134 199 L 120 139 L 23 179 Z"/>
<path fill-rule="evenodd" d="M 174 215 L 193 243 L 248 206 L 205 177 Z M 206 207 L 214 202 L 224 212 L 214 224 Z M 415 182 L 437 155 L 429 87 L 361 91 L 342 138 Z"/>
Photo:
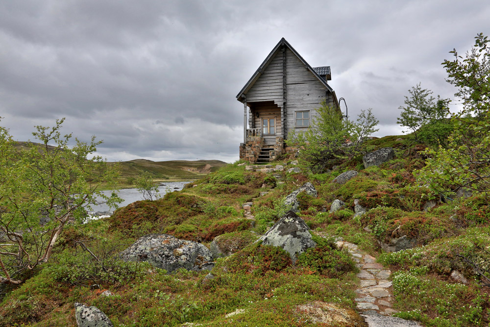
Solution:
<path fill-rule="evenodd" d="M 120 255 L 129 261 L 147 261 L 169 273 L 179 268 L 211 270 L 214 266 L 213 254 L 204 245 L 167 234 L 142 236 Z"/>

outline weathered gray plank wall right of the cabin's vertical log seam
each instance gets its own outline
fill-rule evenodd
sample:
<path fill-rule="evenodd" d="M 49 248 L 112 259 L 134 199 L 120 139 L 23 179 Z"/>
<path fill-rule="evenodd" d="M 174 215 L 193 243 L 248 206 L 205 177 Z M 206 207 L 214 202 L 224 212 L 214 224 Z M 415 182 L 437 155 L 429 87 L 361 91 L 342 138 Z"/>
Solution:
<path fill-rule="evenodd" d="M 286 97 L 288 110 L 286 113 L 286 132 L 291 130 L 301 131 L 304 127 L 294 126 L 294 112 L 300 110 L 310 110 L 310 119 L 317 117 L 316 108 L 325 99 L 326 87 L 306 69 L 294 53 L 286 50 Z M 333 98 L 332 98 L 333 101 Z"/>

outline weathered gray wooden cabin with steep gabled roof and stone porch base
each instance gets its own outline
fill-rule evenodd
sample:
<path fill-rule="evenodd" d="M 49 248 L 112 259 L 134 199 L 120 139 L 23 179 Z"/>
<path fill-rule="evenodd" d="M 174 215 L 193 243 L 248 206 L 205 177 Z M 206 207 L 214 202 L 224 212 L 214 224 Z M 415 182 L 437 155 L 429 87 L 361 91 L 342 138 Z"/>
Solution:
<path fill-rule="evenodd" d="M 312 68 L 282 38 L 237 95 L 244 104 L 240 158 L 265 162 L 288 151 L 288 134 L 310 128 L 322 101 L 338 106 L 329 80 L 329 66 Z"/>

